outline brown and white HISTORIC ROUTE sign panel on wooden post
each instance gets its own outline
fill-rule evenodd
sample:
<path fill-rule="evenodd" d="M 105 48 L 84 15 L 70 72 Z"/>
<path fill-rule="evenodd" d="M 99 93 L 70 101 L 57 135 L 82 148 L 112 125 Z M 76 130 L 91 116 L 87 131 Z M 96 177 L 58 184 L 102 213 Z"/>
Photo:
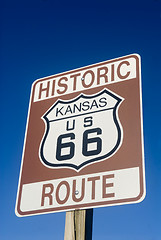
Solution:
<path fill-rule="evenodd" d="M 33 83 L 17 216 L 144 199 L 140 76 L 133 54 Z"/>

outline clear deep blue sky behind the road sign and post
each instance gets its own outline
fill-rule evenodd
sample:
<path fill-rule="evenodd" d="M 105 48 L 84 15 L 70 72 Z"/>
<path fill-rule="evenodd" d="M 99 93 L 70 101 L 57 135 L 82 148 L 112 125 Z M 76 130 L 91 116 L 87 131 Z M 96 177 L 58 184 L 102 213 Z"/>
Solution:
<path fill-rule="evenodd" d="M 94 209 L 93 240 L 161 239 L 161 1 L 0 1 L 0 239 L 63 239 L 65 213 L 14 208 L 34 80 L 132 53 L 142 59 L 146 198 Z"/>

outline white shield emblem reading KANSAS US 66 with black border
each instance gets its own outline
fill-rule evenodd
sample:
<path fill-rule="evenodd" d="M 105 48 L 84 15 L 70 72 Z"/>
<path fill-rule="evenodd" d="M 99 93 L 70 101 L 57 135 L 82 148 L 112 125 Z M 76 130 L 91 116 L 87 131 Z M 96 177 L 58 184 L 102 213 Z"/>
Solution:
<path fill-rule="evenodd" d="M 79 171 L 113 155 L 123 138 L 118 118 L 122 100 L 107 89 L 94 95 L 80 94 L 69 101 L 58 100 L 42 117 L 46 124 L 40 144 L 42 162 L 51 168 Z"/>

